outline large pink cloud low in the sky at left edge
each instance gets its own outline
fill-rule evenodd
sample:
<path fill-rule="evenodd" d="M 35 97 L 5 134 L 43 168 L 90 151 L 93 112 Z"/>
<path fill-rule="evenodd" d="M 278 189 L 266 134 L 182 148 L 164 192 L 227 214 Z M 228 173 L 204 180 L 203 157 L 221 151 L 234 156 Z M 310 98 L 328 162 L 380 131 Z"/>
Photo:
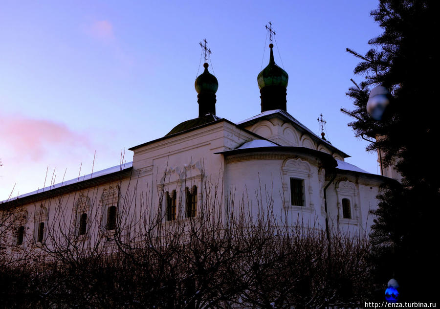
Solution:
<path fill-rule="evenodd" d="M 91 149 L 90 141 L 84 134 L 44 119 L 1 115 L 0 136 L 3 159 L 9 156 L 16 160 L 39 161 L 53 152 L 68 152 L 73 148 Z"/>

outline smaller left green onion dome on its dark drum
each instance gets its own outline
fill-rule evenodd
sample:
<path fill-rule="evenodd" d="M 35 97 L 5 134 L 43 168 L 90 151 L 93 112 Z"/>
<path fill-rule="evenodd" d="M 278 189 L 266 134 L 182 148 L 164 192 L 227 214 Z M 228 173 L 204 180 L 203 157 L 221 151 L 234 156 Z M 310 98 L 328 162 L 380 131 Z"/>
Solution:
<path fill-rule="evenodd" d="M 196 79 L 194 87 L 198 93 L 198 116 L 203 117 L 206 114 L 216 114 L 216 92 L 219 88 L 217 78 L 209 73 L 208 64 L 204 63 L 205 70 Z"/>

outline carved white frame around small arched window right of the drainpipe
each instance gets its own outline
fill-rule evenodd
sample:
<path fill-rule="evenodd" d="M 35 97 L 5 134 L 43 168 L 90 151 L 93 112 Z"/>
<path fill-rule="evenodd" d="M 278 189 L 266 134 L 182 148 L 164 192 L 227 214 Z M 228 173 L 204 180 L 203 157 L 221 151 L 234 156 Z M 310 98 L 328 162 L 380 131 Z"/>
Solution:
<path fill-rule="evenodd" d="M 335 189 L 339 223 L 359 224 L 359 207 L 357 203 L 359 194 L 356 189 L 356 184 L 349 180 L 340 180 L 336 183 Z M 350 213 L 352 218 L 344 218 L 342 199 L 348 199 L 350 201 Z"/>

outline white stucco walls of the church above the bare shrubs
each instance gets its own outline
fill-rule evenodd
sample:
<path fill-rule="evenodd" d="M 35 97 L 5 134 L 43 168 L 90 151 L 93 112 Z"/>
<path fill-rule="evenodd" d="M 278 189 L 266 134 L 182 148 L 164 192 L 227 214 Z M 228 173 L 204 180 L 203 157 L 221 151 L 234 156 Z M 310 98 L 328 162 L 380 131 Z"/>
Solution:
<path fill-rule="evenodd" d="M 269 128 L 271 123 L 264 121 L 260 127 Z M 258 129 L 258 126 L 255 128 Z M 264 135 L 267 129 L 263 129 L 256 131 Z M 310 148 L 316 148 L 306 135 L 300 136 L 290 124 L 281 123 L 279 119 L 272 123 L 270 130 L 272 134 L 278 132 L 279 139 L 273 139 L 275 142 L 288 140 L 290 146 L 300 147 L 310 143 L 313 144 L 309 145 Z M 269 139 L 271 137 L 268 136 Z M 306 155 L 301 149 L 297 153 L 244 149 L 240 154 L 219 154 L 253 139 L 258 139 L 258 136 L 227 121 L 220 121 L 141 145 L 134 149 L 131 176 L 21 206 L 27 216 L 23 247 L 36 238 L 41 221 L 39 212 L 43 217 L 47 213 L 47 218 L 43 218 L 47 232 L 56 228 L 73 233 L 78 233 L 80 214 L 86 212 L 88 233 L 78 241 L 93 244 L 106 241 L 106 233 L 109 233 L 105 231 L 106 216 L 111 205 L 118 207 L 120 224 L 130 225 L 134 221 L 142 224 L 142 219 L 149 216 L 164 215 L 165 192 L 175 190 L 176 219 L 185 220 L 185 188 L 194 185 L 198 187 L 198 207 L 209 205 L 224 215 L 227 206 L 234 206 L 234 209 L 244 206 L 256 217 L 259 207 L 267 209 L 269 205 L 273 206 L 274 215 L 281 221 L 287 220 L 292 225 L 299 221 L 303 225 L 324 229 L 323 189 L 330 176 L 326 178 L 320 159 Z M 322 145 L 317 147 L 329 153 Z M 369 211 L 377 205 L 375 197 L 381 181 L 362 173 L 342 174 L 327 189 L 330 226 L 364 235 L 373 223 Z M 303 181 L 303 206 L 291 204 L 290 178 Z M 343 198 L 351 201 L 350 220 L 342 218 Z M 130 230 L 126 233 L 129 235 Z M 11 234 L 10 241 L 14 242 L 15 237 Z"/>

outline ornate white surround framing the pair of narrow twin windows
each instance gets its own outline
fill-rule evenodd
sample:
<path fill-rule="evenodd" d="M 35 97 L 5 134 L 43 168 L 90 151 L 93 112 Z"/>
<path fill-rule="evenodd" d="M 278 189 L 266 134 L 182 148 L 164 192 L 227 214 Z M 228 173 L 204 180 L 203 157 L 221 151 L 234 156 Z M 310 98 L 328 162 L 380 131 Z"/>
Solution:
<path fill-rule="evenodd" d="M 183 168 L 169 168 L 160 178 L 157 184 L 157 192 L 161 193 L 161 202 L 159 198 L 159 211 L 163 215 L 163 223 L 171 223 L 178 220 L 189 220 L 197 218 L 200 205 L 202 203 L 202 183 L 203 170 L 200 162 L 184 165 Z M 197 215 L 196 217 L 186 217 L 186 187 L 192 192 L 193 186 L 197 186 Z M 167 204 L 165 194 L 176 191 L 176 220 L 167 221 Z"/>

